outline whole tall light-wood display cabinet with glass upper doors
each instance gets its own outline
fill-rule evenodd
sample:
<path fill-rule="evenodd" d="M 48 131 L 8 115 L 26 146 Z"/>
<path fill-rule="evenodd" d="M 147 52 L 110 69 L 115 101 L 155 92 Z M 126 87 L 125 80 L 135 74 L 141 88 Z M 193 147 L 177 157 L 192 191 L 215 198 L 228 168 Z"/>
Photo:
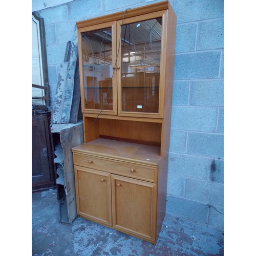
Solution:
<path fill-rule="evenodd" d="M 78 215 L 155 244 L 165 215 L 176 15 L 164 1 L 77 29 Z"/>

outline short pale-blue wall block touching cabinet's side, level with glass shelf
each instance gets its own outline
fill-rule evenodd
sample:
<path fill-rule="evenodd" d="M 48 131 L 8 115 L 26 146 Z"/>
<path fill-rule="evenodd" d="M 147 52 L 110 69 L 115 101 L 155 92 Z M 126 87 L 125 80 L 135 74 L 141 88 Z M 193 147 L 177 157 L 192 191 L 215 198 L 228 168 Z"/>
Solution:
<path fill-rule="evenodd" d="M 189 97 L 189 82 L 174 81 L 173 105 L 187 105 Z"/>

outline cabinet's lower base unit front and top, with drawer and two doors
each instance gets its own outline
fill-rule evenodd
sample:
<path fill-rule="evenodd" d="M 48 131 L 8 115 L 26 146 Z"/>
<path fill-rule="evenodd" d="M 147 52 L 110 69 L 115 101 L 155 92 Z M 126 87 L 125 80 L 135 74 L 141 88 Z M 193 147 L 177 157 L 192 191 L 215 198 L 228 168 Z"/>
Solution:
<path fill-rule="evenodd" d="M 97 139 L 73 155 L 78 215 L 155 243 L 159 147 Z"/>

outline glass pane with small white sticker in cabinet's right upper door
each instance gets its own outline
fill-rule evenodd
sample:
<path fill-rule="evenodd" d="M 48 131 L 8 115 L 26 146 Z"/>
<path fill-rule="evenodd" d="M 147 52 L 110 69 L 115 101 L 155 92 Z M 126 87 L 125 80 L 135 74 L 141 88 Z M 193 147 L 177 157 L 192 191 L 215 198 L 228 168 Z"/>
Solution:
<path fill-rule="evenodd" d="M 161 33 L 161 17 L 122 27 L 123 112 L 159 112 Z"/>

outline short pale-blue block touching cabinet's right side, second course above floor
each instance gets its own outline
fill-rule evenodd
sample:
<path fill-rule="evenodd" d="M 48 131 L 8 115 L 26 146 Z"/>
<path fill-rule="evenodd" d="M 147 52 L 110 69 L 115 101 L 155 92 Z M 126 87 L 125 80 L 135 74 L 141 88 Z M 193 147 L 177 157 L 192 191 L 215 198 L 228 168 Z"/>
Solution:
<path fill-rule="evenodd" d="M 185 179 L 168 173 L 167 194 L 183 197 Z"/>

